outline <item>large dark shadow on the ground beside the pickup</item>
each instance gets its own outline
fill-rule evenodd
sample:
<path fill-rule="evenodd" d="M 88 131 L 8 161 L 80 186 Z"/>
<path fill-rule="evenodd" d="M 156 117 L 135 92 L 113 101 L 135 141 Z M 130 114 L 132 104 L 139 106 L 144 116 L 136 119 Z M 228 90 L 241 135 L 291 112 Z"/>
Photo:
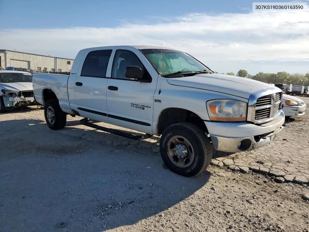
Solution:
<path fill-rule="evenodd" d="M 164 169 L 160 156 L 78 140 L 38 120 L 0 121 L 0 140 L 2 203 L 31 205 L 6 204 L 0 219 L 4 230 L 19 231 L 16 225 L 23 223 L 34 231 L 50 231 L 59 218 L 71 231 L 82 230 L 78 218 L 90 223 L 90 231 L 133 225 L 189 198 L 211 176 L 205 171 L 186 178 Z M 208 194 L 210 187 L 202 191 Z M 46 210 L 53 213 L 46 217 Z"/>

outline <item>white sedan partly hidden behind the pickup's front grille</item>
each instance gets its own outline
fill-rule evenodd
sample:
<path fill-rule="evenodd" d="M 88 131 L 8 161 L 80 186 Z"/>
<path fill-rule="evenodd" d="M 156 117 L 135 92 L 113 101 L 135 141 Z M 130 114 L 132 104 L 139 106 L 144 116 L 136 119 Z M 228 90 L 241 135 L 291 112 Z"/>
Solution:
<path fill-rule="evenodd" d="M 306 104 L 302 99 L 283 94 L 282 110 L 286 117 L 301 116 L 305 114 Z"/>

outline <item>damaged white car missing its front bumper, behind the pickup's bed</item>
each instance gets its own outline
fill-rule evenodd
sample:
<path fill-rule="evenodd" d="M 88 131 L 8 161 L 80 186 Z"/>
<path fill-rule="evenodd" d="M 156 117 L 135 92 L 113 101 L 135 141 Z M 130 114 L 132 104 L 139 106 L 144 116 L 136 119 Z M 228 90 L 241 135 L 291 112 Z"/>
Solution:
<path fill-rule="evenodd" d="M 22 105 L 37 105 L 32 76 L 28 72 L 0 70 L 0 113 Z"/>

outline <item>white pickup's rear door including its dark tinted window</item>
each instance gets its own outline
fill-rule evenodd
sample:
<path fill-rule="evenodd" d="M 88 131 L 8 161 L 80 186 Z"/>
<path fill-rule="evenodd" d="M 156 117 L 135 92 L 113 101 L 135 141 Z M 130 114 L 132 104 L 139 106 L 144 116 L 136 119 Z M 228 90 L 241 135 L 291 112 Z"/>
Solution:
<path fill-rule="evenodd" d="M 75 79 L 71 109 L 85 118 L 108 122 L 106 83 L 113 49 L 89 50 L 84 54 Z"/>

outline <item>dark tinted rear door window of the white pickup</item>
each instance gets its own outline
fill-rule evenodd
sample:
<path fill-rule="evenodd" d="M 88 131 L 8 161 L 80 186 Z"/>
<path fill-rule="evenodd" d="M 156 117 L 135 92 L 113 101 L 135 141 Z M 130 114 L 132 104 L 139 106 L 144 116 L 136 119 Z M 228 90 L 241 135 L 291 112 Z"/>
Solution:
<path fill-rule="evenodd" d="M 89 52 L 81 76 L 106 77 L 106 70 L 112 50 L 98 50 Z"/>

